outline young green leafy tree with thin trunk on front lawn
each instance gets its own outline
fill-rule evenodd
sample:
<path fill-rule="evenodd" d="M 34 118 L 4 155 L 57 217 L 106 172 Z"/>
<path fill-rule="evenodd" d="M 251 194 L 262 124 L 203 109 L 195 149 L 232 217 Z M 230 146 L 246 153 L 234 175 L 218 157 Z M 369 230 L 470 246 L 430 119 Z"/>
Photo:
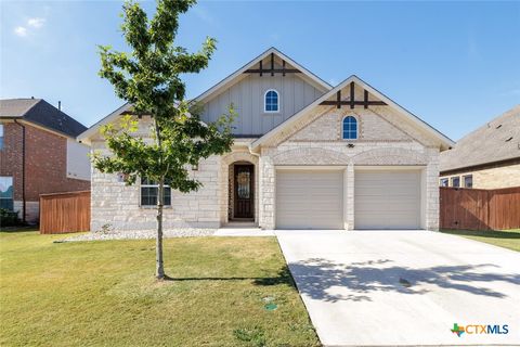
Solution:
<path fill-rule="evenodd" d="M 185 98 L 181 75 L 206 68 L 214 51 L 216 41 L 207 38 L 197 53 L 188 53 L 174 46 L 179 14 L 185 13 L 194 0 L 157 0 L 157 11 L 148 20 L 138 2 L 127 1 L 122 9 L 121 26 L 131 52 L 118 52 L 101 46 L 100 76 L 108 79 L 116 94 L 132 104 L 132 114 L 122 116 L 119 124 L 102 128 L 109 156 L 94 153 L 94 167 L 108 174 L 123 174 L 127 184 L 138 178 L 158 182 L 156 277 L 165 279 L 162 261 L 162 206 L 165 183 L 172 190 L 187 193 L 197 190 L 200 182 L 192 178 L 188 166 L 202 158 L 229 152 L 233 144 L 229 116 L 204 124 L 200 107 Z M 151 138 L 135 134 L 138 116 L 153 119 Z"/>

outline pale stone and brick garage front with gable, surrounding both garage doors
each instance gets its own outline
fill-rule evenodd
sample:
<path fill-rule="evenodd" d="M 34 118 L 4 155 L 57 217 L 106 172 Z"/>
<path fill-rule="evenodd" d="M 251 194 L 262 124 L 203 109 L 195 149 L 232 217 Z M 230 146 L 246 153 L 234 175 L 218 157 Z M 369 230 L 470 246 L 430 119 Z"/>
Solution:
<path fill-rule="evenodd" d="M 341 121 L 347 115 L 353 115 L 359 121 L 358 140 L 341 137 Z M 349 143 L 354 146 L 349 147 Z M 264 229 L 276 227 L 277 166 L 342 168 L 346 230 L 354 228 L 356 168 L 417 168 L 421 172 L 421 228 L 439 229 L 439 145 L 389 107 L 360 111 L 318 106 L 307 121 L 264 145 L 260 156 L 259 214 L 259 224 Z"/>

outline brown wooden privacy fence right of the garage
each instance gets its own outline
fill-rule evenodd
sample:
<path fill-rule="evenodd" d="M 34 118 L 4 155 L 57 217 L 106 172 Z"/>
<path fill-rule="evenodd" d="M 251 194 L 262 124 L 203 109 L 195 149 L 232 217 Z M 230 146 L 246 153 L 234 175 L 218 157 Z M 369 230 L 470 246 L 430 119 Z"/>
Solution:
<path fill-rule="evenodd" d="M 520 228 L 520 187 L 495 190 L 441 188 L 442 229 Z"/>

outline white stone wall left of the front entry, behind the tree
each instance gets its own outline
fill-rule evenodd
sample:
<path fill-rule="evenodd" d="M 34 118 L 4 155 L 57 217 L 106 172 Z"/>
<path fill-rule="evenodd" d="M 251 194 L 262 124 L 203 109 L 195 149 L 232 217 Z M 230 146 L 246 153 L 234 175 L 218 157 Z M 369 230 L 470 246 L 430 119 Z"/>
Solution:
<path fill-rule="evenodd" d="M 103 144 L 92 143 L 93 150 Z M 221 158 L 209 157 L 192 171 L 203 187 L 190 194 L 171 191 L 171 206 L 164 210 L 165 229 L 218 228 L 221 224 Z M 93 169 L 91 197 L 91 230 L 103 226 L 117 230 L 153 230 L 156 228 L 155 207 L 141 206 L 140 183 L 126 185 L 117 175 Z"/>

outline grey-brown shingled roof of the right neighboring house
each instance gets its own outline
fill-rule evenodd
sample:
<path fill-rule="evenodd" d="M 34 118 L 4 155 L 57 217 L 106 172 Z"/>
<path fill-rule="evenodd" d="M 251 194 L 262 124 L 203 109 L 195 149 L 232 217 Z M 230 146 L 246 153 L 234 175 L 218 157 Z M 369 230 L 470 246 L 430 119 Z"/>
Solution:
<path fill-rule="evenodd" d="M 520 158 L 520 105 L 484 124 L 441 153 L 441 172 Z"/>

